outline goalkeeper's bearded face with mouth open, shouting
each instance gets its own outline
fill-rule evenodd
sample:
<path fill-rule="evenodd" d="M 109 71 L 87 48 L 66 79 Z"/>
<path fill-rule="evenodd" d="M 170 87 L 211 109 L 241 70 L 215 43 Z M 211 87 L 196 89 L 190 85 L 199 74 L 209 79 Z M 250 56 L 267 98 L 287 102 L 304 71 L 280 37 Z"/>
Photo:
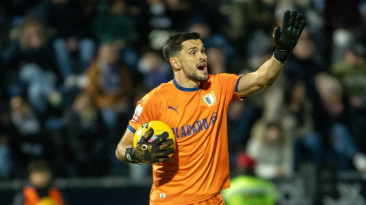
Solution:
<path fill-rule="evenodd" d="M 186 40 L 182 46 L 178 58 L 186 77 L 198 82 L 207 81 L 207 56 L 202 41 Z"/>

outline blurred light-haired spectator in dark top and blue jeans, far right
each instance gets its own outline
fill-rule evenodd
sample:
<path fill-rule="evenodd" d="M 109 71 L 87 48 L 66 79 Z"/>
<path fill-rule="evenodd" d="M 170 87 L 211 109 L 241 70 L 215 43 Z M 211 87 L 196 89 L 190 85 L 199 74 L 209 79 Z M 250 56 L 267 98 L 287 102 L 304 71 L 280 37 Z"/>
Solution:
<path fill-rule="evenodd" d="M 349 129 L 349 113 L 340 82 L 327 73 L 315 78 L 318 101 L 314 105 L 315 130 L 322 136 L 324 159 L 339 170 L 352 169 L 359 150 Z"/>

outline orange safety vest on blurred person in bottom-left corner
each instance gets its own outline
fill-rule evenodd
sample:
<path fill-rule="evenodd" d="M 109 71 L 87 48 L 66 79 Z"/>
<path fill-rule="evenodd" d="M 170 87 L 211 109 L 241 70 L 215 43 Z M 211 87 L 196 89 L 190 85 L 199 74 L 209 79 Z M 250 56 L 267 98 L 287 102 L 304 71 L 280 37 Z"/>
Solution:
<path fill-rule="evenodd" d="M 24 205 L 37 205 L 42 199 L 38 195 L 36 189 L 30 186 L 26 186 L 23 189 Z M 48 197 L 57 205 L 64 205 L 61 193 L 56 188 L 50 188 L 48 190 Z"/>

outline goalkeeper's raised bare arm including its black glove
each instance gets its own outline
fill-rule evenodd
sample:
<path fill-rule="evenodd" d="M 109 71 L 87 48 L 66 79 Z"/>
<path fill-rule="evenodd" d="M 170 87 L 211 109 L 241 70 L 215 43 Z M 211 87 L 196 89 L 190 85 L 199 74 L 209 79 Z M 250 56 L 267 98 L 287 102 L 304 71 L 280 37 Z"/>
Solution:
<path fill-rule="evenodd" d="M 303 15 L 296 10 L 285 11 L 281 27 L 273 31 L 275 47 L 273 56 L 263 63 L 257 71 L 248 73 L 240 78 L 238 92 L 240 97 L 248 96 L 262 88 L 267 88 L 275 82 L 287 58 L 296 46 L 298 39 L 306 25 Z"/>

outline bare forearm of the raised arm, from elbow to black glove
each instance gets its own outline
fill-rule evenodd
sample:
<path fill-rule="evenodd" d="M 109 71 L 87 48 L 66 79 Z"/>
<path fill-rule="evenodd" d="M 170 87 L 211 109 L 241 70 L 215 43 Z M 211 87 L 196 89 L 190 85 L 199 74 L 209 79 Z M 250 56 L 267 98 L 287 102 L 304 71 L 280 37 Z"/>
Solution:
<path fill-rule="evenodd" d="M 271 57 L 259 67 L 257 70 L 257 85 L 261 88 L 267 88 L 275 82 L 279 76 L 283 64 L 276 61 L 275 58 Z"/>

